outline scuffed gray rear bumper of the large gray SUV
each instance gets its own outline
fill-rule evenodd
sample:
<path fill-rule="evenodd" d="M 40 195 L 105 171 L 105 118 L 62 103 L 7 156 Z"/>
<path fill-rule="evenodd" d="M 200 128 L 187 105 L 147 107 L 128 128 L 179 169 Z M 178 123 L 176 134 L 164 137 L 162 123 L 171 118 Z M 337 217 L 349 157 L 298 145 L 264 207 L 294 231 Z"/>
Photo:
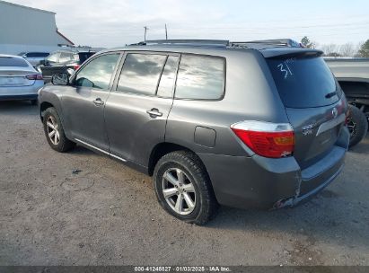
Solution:
<path fill-rule="evenodd" d="M 198 155 L 206 165 L 220 204 L 240 208 L 287 207 L 316 194 L 338 176 L 348 138 L 347 128 L 342 129 L 329 154 L 304 170 L 294 157 Z"/>

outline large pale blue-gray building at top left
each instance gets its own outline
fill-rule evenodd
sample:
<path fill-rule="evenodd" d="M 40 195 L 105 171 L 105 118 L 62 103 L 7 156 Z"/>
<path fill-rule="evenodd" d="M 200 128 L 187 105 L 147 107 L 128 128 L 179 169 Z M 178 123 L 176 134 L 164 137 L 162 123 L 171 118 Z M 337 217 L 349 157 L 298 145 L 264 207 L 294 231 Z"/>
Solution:
<path fill-rule="evenodd" d="M 73 46 L 57 30 L 55 14 L 0 0 L 0 54 L 51 52 L 60 46 Z"/>

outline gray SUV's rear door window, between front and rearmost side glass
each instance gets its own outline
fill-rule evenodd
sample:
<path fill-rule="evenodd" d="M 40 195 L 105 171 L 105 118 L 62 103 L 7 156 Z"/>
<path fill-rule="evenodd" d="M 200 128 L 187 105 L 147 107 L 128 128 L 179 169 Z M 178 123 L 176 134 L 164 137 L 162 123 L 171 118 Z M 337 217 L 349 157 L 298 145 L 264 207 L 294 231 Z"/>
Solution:
<path fill-rule="evenodd" d="M 127 54 L 117 91 L 154 95 L 166 58 L 165 55 Z"/>

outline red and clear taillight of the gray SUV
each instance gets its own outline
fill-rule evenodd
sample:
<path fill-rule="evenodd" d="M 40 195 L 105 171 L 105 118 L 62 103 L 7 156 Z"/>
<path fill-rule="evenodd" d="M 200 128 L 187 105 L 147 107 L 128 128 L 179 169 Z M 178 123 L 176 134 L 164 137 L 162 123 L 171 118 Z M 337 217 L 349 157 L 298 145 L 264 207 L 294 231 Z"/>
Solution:
<path fill-rule="evenodd" d="M 289 123 L 242 121 L 233 124 L 231 129 L 261 156 L 280 158 L 294 153 L 294 128 Z"/>

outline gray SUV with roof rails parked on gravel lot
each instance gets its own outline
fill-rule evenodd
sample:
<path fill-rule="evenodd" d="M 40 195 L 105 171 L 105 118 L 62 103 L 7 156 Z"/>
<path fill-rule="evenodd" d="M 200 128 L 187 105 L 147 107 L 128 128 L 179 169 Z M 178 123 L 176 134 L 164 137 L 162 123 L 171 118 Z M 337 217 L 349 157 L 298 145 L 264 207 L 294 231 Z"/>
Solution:
<path fill-rule="evenodd" d="M 40 91 L 48 144 L 153 176 L 172 216 L 292 207 L 341 172 L 347 101 L 315 49 L 164 40 L 101 51 Z"/>

